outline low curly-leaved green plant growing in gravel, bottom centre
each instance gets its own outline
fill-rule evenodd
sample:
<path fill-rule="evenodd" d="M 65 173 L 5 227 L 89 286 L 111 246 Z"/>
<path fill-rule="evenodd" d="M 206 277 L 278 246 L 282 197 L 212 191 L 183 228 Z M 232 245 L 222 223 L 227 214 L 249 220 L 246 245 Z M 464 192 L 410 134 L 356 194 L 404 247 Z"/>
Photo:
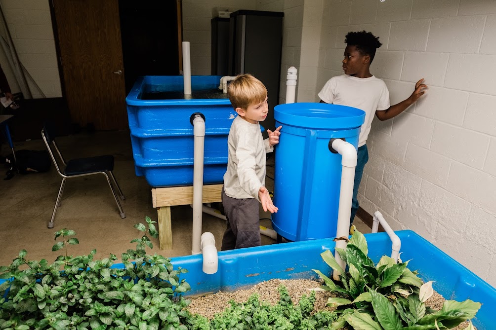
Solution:
<path fill-rule="evenodd" d="M 259 301 L 252 294 L 246 303 L 230 301 L 231 306 L 214 316 L 209 322 L 205 317 L 195 315 L 190 323 L 194 330 L 260 329 L 260 330 L 320 330 L 336 320 L 336 313 L 319 311 L 312 313 L 315 291 L 303 295 L 298 304 L 293 304 L 284 285 L 278 287 L 279 302 L 271 306 Z"/>

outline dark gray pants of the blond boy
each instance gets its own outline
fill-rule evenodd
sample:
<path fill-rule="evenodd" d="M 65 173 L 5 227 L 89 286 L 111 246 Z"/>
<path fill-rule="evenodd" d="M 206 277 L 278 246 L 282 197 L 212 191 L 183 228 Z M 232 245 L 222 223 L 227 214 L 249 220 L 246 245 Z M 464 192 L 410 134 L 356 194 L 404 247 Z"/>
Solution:
<path fill-rule="evenodd" d="M 227 218 L 222 251 L 261 245 L 259 204 L 255 198 L 229 197 L 222 187 L 222 205 Z"/>

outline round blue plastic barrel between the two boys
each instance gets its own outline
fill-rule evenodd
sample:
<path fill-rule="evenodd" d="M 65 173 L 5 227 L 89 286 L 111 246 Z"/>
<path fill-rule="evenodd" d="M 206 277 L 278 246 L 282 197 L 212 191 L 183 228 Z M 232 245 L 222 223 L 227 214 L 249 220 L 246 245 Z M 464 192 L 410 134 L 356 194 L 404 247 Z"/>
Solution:
<path fill-rule="evenodd" d="M 292 103 L 274 108 L 282 125 L 275 152 L 272 226 L 292 241 L 336 236 L 341 155 L 329 140 L 344 138 L 358 147 L 365 112 L 325 103 Z"/>

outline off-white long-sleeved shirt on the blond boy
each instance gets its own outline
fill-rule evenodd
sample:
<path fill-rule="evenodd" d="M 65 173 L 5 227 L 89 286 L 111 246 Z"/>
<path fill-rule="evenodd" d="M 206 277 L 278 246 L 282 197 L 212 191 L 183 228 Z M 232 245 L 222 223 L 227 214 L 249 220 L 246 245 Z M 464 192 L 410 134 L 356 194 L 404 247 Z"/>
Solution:
<path fill-rule="evenodd" d="M 256 198 L 265 185 L 266 153 L 274 147 L 262 138 L 260 124 L 252 124 L 236 116 L 227 139 L 228 161 L 224 174 L 224 191 L 232 198 Z"/>

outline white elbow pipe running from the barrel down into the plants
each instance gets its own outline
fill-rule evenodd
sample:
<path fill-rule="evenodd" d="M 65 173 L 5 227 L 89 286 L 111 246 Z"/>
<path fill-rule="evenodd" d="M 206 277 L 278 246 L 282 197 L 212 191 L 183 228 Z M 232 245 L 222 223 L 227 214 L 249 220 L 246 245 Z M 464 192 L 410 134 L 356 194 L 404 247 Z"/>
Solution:
<path fill-rule="evenodd" d="M 341 139 L 335 139 L 332 142 L 332 148 L 341 155 L 341 165 L 343 166 L 336 237 L 348 237 L 350 234 L 351 202 L 353 200 L 353 185 L 355 183 L 355 167 L 357 166 L 357 150 L 351 143 Z M 337 241 L 336 247 L 346 249 L 346 241 Z M 334 258 L 344 270 L 346 263 L 341 259 L 337 251 L 334 252 Z M 332 276 L 335 280 L 338 280 L 339 272 L 334 271 Z"/>

